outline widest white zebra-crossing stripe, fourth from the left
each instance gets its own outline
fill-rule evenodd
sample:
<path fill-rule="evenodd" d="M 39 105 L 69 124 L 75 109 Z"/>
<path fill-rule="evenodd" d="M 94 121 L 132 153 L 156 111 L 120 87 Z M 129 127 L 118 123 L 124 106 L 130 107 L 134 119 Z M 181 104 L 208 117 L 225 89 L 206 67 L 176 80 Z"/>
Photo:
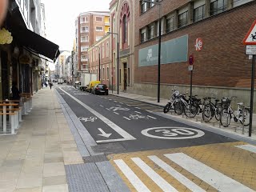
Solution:
<path fill-rule="evenodd" d="M 202 179 L 202 181 L 207 182 L 210 186 L 213 186 L 216 190 L 222 192 L 252 192 L 249 187 L 242 185 L 240 182 L 235 181 L 232 178 L 227 177 L 225 174 L 214 170 L 210 166 L 206 166 L 202 162 L 198 162 L 190 156 L 177 153 L 177 154 L 165 154 L 167 158 L 171 161 L 182 166 L 185 170 L 194 174 L 196 177 Z"/>

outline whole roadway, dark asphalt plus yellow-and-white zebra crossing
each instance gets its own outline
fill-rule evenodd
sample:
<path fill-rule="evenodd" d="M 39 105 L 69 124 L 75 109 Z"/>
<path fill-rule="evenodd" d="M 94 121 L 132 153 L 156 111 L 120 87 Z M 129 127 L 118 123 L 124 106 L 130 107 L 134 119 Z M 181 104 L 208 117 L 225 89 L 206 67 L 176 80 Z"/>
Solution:
<path fill-rule="evenodd" d="M 127 191 L 256 190 L 255 146 L 171 120 L 159 106 L 70 86 L 56 90 L 94 141 L 86 145 L 85 165 L 109 161 Z M 83 130 L 80 137 L 88 137 Z"/>

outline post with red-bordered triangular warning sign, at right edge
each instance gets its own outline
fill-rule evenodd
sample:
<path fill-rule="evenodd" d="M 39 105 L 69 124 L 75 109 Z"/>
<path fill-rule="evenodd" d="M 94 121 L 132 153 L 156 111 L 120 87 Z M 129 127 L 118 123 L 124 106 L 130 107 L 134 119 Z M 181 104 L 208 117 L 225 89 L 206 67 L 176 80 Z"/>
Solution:
<path fill-rule="evenodd" d="M 256 20 L 250 26 L 250 30 L 246 34 L 242 43 L 246 45 L 246 54 L 253 55 L 253 63 L 251 67 L 251 84 L 250 84 L 250 124 L 249 124 L 249 137 L 251 137 L 253 111 L 254 111 L 254 78 L 255 78 L 255 62 L 256 62 Z"/>

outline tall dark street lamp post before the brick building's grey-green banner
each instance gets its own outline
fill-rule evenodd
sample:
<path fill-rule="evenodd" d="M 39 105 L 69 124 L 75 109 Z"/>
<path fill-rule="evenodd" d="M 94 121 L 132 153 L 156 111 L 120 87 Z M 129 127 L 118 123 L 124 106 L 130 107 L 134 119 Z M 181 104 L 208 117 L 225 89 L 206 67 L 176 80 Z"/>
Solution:
<path fill-rule="evenodd" d="M 150 2 L 159 6 L 159 34 L 158 34 L 158 102 L 160 102 L 160 66 L 161 66 L 161 2 L 152 2 L 149 0 L 143 0 L 142 2 Z"/>

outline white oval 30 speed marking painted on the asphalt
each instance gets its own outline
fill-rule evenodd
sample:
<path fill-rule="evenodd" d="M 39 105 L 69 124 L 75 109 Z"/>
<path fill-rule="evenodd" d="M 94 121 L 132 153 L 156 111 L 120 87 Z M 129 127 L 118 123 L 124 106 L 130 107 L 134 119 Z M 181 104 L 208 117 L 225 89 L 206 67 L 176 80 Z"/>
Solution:
<path fill-rule="evenodd" d="M 187 139 L 187 138 L 200 138 L 205 133 L 202 130 L 196 130 L 187 127 L 152 127 L 142 130 L 142 134 L 150 138 L 162 139 Z"/>

